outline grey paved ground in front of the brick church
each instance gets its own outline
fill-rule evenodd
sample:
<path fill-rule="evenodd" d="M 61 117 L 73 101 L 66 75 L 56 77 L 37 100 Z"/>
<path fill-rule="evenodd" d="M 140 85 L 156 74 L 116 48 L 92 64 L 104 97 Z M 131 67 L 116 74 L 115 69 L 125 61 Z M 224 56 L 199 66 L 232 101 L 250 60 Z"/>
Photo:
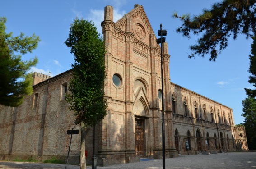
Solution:
<path fill-rule="evenodd" d="M 256 152 L 182 155 L 166 159 L 166 169 L 256 169 Z M 90 166 L 87 169 L 92 169 Z M 65 169 L 65 164 L 42 164 L 0 161 L 0 169 Z M 67 169 L 79 169 L 68 165 Z M 97 169 L 163 169 L 162 159 L 142 159 L 140 162 L 118 164 Z"/>

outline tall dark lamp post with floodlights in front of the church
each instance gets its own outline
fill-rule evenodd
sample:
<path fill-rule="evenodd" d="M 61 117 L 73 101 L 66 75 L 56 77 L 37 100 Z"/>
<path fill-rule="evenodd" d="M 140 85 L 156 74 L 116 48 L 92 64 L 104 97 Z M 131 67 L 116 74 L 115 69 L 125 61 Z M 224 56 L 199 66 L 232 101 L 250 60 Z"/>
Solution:
<path fill-rule="evenodd" d="M 162 80 L 162 146 L 163 146 L 163 169 L 165 169 L 165 134 L 164 134 L 164 104 L 163 104 L 163 51 L 162 51 L 162 43 L 165 42 L 165 37 L 167 35 L 167 31 L 162 29 L 163 25 L 160 24 L 160 30 L 158 30 L 158 38 L 157 43 L 161 44 L 161 80 Z"/>

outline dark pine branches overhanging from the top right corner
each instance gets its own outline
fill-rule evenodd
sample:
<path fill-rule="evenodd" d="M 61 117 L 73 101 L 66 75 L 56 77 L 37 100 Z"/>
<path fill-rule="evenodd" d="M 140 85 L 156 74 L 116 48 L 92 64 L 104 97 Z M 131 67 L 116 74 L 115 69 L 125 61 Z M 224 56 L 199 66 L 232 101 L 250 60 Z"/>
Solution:
<path fill-rule="evenodd" d="M 228 46 L 228 38 L 237 38 L 237 34 L 245 34 L 247 38 L 255 37 L 256 33 L 256 0 L 222 0 L 214 3 L 211 9 L 204 9 L 203 14 L 191 17 L 190 15 L 173 16 L 180 18 L 182 26 L 177 28 L 178 33 L 190 37 L 190 33 L 201 35 L 197 44 L 191 45 L 194 51 L 189 58 L 195 55 L 210 54 L 215 61 L 219 52 Z M 219 46 L 219 51 L 217 47 Z"/>

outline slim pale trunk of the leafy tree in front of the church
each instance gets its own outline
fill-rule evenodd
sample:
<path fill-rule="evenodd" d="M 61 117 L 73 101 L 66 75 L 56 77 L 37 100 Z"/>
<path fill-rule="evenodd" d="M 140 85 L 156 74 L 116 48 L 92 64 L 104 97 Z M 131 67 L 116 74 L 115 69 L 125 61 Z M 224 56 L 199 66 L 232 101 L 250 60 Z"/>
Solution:
<path fill-rule="evenodd" d="M 83 122 L 81 122 L 80 125 L 81 125 L 80 169 L 86 169 L 86 159 L 85 159 L 86 127 Z"/>

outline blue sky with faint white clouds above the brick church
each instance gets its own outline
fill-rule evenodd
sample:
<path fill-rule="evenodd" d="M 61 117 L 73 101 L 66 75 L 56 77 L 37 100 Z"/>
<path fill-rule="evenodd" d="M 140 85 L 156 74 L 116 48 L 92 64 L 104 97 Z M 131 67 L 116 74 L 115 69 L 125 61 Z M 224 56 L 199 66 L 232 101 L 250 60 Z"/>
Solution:
<path fill-rule="evenodd" d="M 178 14 L 196 15 L 202 9 L 210 8 L 219 0 L 3 0 L 0 5 L 0 17 L 7 17 L 6 32 L 14 36 L 20 32 L 31 36 L 35 33 L 41 41 L 32 54 L 23 56 L 24 60 L 35 55 L 39 63 L 33 71 L 51 76 L 71 69 L 74 57 L 64 42 L 68 37 L 70 24 L 76 17 L 93 20 L 98 32 L 103 21 L 104 7 L 114 7 L 114 21 L 134 8 L 135 4 L 143 5 L 149 22 L 157 35 L 160 23 L 168 31 L 171 81 L 215 100 L 233 109 L 236 124 L 243 122 L 242 100 L 247 96 L 244 88 L 249 84 L 248 68 L 251 53 L 251 39 L 239 35 L 235 41 L 230 39 L 228 48 L 223 50 L 215 62 L 209 56 L 188 58 L 189 46 L 195 44 L 197 37 L 191 39 L 177 34 L 175 29 L 181 26 Z M 157 36 L 158 37 L 158 36 Z"/>

